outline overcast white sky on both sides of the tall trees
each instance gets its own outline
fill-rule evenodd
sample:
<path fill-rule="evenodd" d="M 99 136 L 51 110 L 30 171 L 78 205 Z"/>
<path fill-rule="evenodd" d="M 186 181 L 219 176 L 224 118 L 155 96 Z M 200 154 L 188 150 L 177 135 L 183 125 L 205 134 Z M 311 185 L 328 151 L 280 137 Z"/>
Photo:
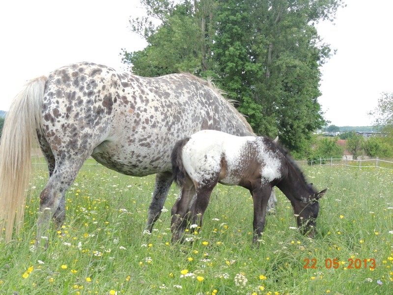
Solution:
<path fill-rule="evenodd" d="M 367 112 L 381 92 L 393 92 L 393 1 L 346 0 L 336 25 L 318 25 L 337 54 L 322 68 L 319 102 L 332 124 L 371 125 Z M 141 50 L 130 16 L 139 0 L 12 0 L 0 2 L 0 110 L 24 83 L 79 61 L 125 69 L 121 48 Z"/>

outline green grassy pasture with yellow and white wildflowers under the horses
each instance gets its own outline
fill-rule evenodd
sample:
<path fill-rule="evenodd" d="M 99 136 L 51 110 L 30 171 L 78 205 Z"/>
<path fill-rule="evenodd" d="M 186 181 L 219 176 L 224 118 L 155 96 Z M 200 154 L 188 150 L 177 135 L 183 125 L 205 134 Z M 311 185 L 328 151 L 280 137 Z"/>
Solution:
<path fill-rule="evenodd" d="M 294 229 L 290 203 L 277 191 L 277 213 L 253 249 L 245 189 L 217 186 L 203 227 L 190 234 L 194 243 L 171 245 L 176 187 L 153 233 L 143 234 L 154 176 L 85 165 L 66 194 L 65 224 L 46 233 L 44 251 L 34 246 L 34 224 L 47 172 L 36 167 L 23 232 L 0 242 L 0 294 L 392 293 L 393 171 L 304 167 L 319 190 L 329 188 L 316 238 Z"/>

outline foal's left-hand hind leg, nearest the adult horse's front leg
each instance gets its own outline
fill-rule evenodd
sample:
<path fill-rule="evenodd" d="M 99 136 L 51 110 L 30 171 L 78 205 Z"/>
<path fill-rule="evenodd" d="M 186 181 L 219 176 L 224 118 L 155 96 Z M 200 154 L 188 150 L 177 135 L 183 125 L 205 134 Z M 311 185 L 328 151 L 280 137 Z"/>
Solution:
<path fill-rule="evenodd" d="M 179 198 L 172 207 L 172 242 L 182 241 L 183 234 L 187 226 L 190 204 L 196 197 L 193 181 L 186 177 L 185 183 L 181 188 Z"/>

